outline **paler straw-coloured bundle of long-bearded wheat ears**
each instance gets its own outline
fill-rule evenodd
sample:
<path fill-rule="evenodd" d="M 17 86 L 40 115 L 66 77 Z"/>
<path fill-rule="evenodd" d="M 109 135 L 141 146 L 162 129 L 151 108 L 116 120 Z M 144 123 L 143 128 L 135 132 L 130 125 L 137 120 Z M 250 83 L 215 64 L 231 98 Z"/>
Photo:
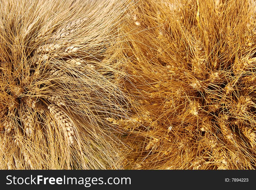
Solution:
<path fill-rule="evenodd" d="M 122 169 L 120 1 L 0 1 L 1 169 Z M 112 135 L 112 136 L 111 136 Z"/>

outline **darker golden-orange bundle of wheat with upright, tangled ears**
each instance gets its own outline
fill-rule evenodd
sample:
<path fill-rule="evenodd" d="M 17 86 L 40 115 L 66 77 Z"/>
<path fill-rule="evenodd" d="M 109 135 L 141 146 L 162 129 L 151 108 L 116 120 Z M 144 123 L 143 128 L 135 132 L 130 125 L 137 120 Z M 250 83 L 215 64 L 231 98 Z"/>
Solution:
<path fill-rule="evenodd" d="M 122 86 L 137 104 L 132 121 L 113 121 L 127 168 L 255 169 L 255 8 L 145 0 L 127 10 Z"/>

